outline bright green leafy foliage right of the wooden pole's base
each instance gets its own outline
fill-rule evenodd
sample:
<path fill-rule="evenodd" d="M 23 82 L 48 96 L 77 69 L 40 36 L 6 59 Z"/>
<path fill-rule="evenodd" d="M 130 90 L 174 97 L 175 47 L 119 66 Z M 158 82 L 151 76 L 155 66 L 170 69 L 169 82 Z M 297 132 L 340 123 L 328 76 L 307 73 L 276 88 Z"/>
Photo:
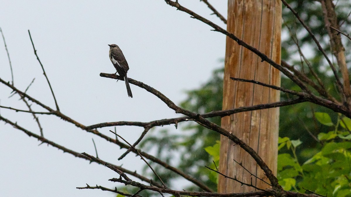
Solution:
<path fill-rule="evenodd" d="M 330 125 L 332 131 L 319 133 L 322 149 L 310 159 L 299 164 L 296 147 L 287 137 L 279 138 L 279 149 L 286 148 L 290 154 L 278 155 L 278 179 L 285 190 L 313 191 L 320 195 L 344 197 L 351 195 L 351 142 L 350 118 L 338 116 L 336 123 L 329 114 L 316 112 L 317 120 Z M 340 124 L 343 122 L 343 125 Z M 292 145 L 290 145 L 292 144 Z M 294 145 L 293 145 L 294 144 Z"/>

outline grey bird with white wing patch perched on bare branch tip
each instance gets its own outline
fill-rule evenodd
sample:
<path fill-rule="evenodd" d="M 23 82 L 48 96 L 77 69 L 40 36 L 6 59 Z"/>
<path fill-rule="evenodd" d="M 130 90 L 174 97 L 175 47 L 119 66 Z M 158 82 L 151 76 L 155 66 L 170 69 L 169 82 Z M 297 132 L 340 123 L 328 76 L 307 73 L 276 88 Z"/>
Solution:
<path fill-rule="evenodd" d="M 118 73 L 119 76 L 124 77 L 124 81 L 126 82 L 128 96 L 133 98 L 132 90 L 129 86 L 128 78 L 127 78 L 127 72 L 129 70 L 127 60 L 124 57 L 122 50 L 117 45 L 112 44 L 112 45 L 108 45 L 108 46 L 110 46 L 110 51 L 109 51 L 110 60 L 113 64 L 114 68 L 117 70 L 116 73 Z"/>

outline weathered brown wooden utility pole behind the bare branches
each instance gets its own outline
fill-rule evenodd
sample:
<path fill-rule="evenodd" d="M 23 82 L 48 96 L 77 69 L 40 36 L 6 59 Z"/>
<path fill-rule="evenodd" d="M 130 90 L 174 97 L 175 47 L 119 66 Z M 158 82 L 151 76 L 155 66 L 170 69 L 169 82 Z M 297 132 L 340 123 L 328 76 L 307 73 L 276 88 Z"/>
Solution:
<path fill-rule="evenodd" d="M 227 30 L 280 63 L 280 32 L 282 26 L 280 0 L 229 0 Z M 253 83 L 233 81 L 230 77 L 256 80 L 280 86 L 280 73 L 267 62 L 227 37 L 223 110 L 279 101 L 279 91 Z M 222 118 L 223 128 L 250 145 L 277 174 L 279 108 L 233 114 Z M 263 171 L 238 145 L 221 136 L 219 170 L 266 189 L 269 185 L 251 176 L 242 165 L 265 181 Z M 219 175 L 218 192 L 247 192 L 254 189 Z"/>

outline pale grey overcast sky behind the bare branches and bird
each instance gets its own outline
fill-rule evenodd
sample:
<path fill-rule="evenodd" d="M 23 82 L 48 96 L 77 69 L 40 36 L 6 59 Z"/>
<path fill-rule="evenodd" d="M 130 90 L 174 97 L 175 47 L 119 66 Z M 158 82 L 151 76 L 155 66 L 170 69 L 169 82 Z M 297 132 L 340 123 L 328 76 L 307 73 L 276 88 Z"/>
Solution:
<path fill-rule="evenodd" d="M 223 22 L 210 15 L 212 12 L 203 2 L 179 2 L 225 28 Z M 226 1 L 210 2 L 226 17 Z M 33 53 L 29 29 L 61 112 L 84 125 L 179 116 L 144 89 L 131 84 L 131 99 L 124 82 L 116 83 L 99 76 L 101 72 L 115 72 L 108 58 L 108 44 L 117 44 L 122 49 L 130 67 L 128 77 L 150 85 L 178 104 L 185 99 L 185 90 L 200 87 L 213 69 L 223 66 L 218 60 L 224 57 L 225 36 L 177 11 L 164 0 L 3 0 L 0 19 L 15 86 L 24 91 L 35 78 L 27 93 L 55 108 Z M 0 78 L 11 81 L 2 41 Z M 2 106 L 26 109 L 18 95 L 8 98 L 10 94 L 11 89 L 0 84 Z M 35 104 L 33 108 L 45 111 Z M 7 109 L 0 109 L 0 113 L 39 134 L 31 115 Z M 66 148 L 95 155 L 91 140 L 94 138 L 101 159 L 123 164 L 130 170 L 140 171 L 144 165 L 134 154 L 118 161 L 124 150 L 55 116 L 40 115 L 39 118 L 44 136 Z M 110 129 L 113 128 L 99 131 L 112 137 Z M 142 129 L 119 127 L 117 131 L 134 142 Z M 108 179 L 118 177 L 115 172 L 39 144 L 35 138 L 0 122 L 0 196 L 115 196 L 101 190 L 75 189 L 85 183 L 113 188 L 117 184 Z"/>

